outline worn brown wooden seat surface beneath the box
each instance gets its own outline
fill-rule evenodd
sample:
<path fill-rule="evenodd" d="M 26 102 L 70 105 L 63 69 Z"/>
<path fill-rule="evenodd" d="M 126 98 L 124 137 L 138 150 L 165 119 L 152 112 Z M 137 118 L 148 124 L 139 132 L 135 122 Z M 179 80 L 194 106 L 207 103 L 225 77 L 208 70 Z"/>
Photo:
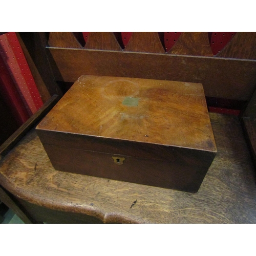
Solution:
<path fill-rule="evenodd" d="M 59 172 L 34 130 L 0 162 L 0 183 L 30 203 L 106 223 L 256 223 L 255 171 L 239 120 L 210 120 L 218 153 L 196 194 Z"/>

